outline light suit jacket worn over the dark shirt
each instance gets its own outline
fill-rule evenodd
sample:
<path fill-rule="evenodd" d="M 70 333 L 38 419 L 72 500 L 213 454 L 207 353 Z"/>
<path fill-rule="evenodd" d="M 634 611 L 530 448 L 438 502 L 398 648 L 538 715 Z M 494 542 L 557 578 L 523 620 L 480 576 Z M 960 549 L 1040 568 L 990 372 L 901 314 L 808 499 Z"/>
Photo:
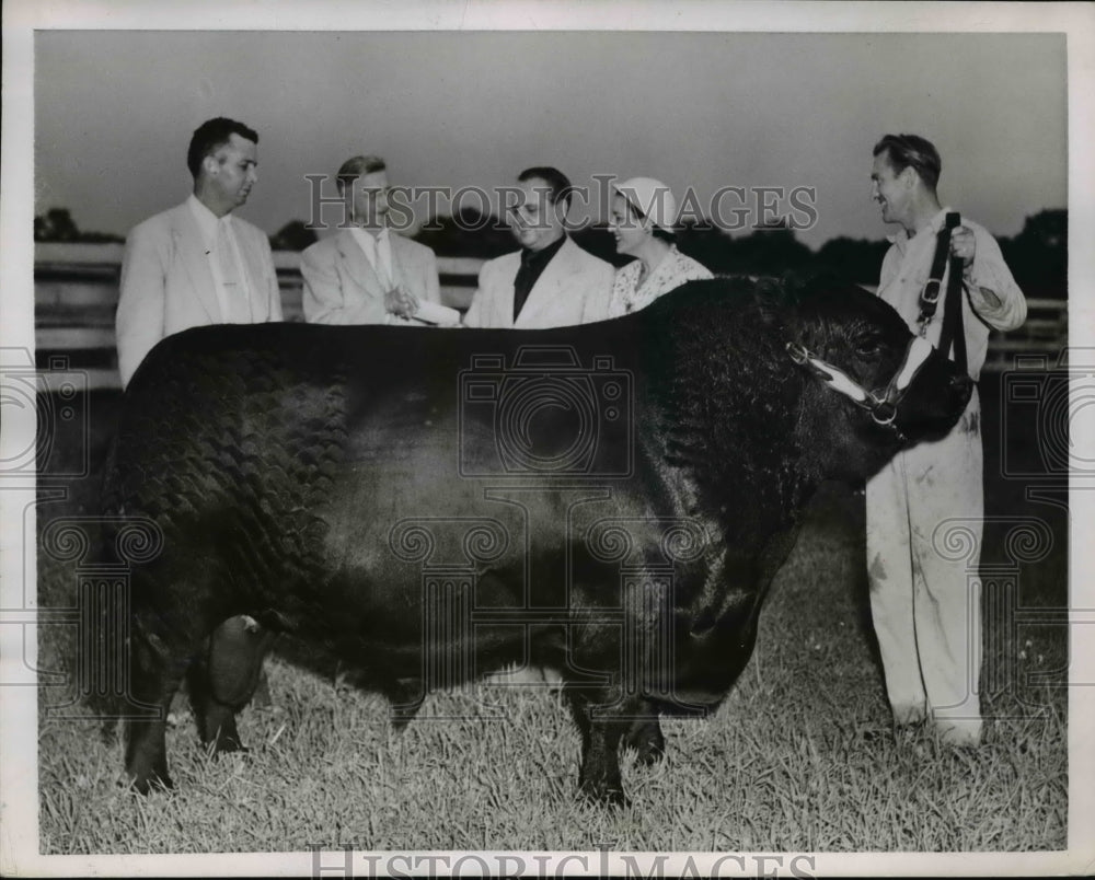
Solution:
<path fill-rule="evenodd" d="M 520 251 L 483 264 L 479 290 L 464 315 L 466 326 L 537 329 L 589 324 L 608 317 L 615 274 L 612 264 L 567 238 L 532 286 L 515 322 L 514 281 L 520 267 Z"/>

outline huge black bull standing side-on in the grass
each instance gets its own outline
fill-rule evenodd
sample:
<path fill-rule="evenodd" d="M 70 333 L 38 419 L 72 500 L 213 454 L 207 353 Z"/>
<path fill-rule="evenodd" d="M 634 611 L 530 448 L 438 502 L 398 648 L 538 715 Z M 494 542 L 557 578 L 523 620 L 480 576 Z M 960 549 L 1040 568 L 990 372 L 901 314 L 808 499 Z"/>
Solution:
<path fill-rule="evenodd" d="M 126 768 L 170 785 L 164 721 L 189 674 L 203 740 L 291 633 L 413 717 L 433 687 L 551 667 L 581 731 L 580 789 L 622 801 L 619 749 L 658 713 L 717 706 L 826 478 L 862 480 L 958 419 L 932 352 L 892 424 L 866 390 L 911 335 L 858 288 L 693 282 L 633 315 L 546 331 L 204 327 L 126 394 L 106 512 L 162 551 L 134 567 Z M 795 351 L 802 349 L 795 348 Z M 823 377 L 822 377 L 823 378 Z"/>

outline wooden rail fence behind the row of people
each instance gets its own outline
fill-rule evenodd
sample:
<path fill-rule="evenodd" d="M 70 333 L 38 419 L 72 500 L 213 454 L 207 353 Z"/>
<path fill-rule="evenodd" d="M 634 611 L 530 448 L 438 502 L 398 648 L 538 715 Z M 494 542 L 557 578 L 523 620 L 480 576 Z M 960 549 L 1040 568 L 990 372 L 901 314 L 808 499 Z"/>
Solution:
<path fill-rule="evenodd" d="M 72 369 L 87 373 L 89 387 L 118 389 L 120 379 L 114 339 L 118 301 L 120 244 L 39 242 L 34 253 L 34 322 L 39 366 L 61 355 Z M 441 301 L 460 311 L 475 292 L 482 259 L 438 257 Z M 303 321 L 300 255 L 274 252 L 286 321 Z M 1028 316 L 1018 331 L 994 333 L 989 339 L 986 371 L 1002 371 L 1018 355 L 1057 354 L 1068 340 L 1067 300 L 1028 299 Z"/>

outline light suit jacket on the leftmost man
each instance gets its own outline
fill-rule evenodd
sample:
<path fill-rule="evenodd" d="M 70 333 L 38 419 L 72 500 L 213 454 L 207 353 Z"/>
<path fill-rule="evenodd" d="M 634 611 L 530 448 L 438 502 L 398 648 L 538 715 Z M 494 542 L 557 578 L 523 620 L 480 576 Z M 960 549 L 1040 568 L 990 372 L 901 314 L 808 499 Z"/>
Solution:
<path fill-rule="evenodd" d="M 269 240 L 258 227 L 232 217 L 232 231 L 253 285 L 255 323 L 281 320 L 281 294 Z M 220 324 L 220 305 L 197 220 L 185 201 L 134 227 L 122 258 L 115 316 L 122 387 L 160 339 Z"/>

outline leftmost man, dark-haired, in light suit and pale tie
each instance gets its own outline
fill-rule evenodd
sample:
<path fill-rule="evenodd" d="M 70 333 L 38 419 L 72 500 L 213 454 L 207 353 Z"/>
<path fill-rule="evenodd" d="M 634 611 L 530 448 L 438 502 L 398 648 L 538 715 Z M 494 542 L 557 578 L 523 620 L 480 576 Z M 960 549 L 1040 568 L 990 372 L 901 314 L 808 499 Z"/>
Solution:
<path fill-rule="evenodd" d="M 194 192 L 129 233 L 115 319 L 123 387 L 164 336 L 281 320 L 266 233 L 232 216 L 258 180 L 257 143 L 242 123 L 203 123 L 186 154 Z"/>

